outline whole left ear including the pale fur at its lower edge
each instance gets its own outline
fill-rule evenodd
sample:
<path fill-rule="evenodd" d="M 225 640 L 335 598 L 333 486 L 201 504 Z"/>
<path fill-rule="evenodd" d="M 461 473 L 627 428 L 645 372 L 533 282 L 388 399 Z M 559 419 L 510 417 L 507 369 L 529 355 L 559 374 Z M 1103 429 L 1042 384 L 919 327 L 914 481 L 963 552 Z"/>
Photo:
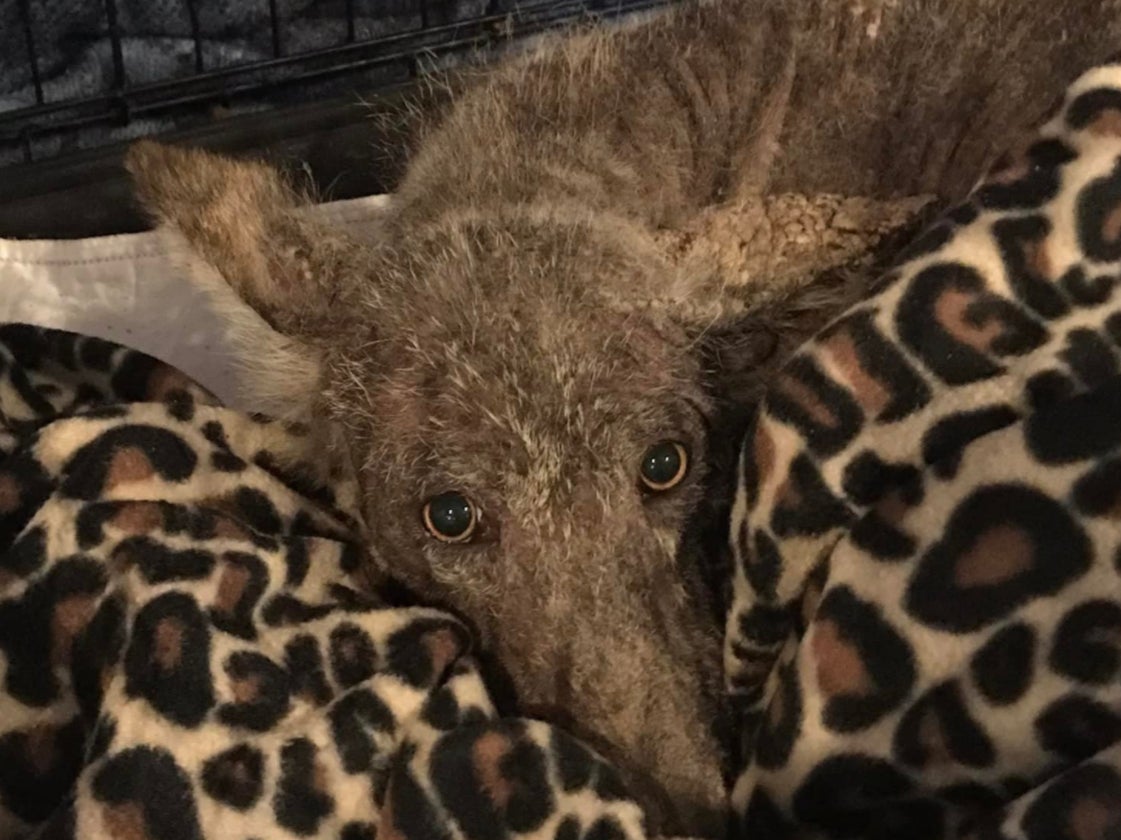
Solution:
<path fill-rule="evenodd" d="M 353 317 L 342 298 L 360 247 L 299 212 L 298 194 L 262 163 L 145 140 L 126 166 L 141 203 L 185 241 L 175 256 L 224 317 L 241 407 L 309 419 L 322 350 Z"/>

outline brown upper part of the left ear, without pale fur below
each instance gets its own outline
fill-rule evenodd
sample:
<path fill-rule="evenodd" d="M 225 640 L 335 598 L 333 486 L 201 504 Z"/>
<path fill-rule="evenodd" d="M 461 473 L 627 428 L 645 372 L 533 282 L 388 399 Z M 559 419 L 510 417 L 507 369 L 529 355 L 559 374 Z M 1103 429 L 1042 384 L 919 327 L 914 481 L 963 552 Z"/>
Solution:
<path fill-rule="evenodd" d="M 129 149 L 126 167 L 143 206 L 272 329 L 308 343 L 337 332 L 358 246 L 299 213 L 279 172 L 151 140 Z"/>

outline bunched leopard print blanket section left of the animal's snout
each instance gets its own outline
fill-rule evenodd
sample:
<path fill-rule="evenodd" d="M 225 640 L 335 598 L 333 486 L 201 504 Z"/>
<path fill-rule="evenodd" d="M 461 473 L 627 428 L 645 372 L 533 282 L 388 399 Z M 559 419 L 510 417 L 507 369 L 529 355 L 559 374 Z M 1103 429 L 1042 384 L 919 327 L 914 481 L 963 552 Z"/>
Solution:
<path fill-rule="evenodd" d="M 0 838 L 641 836 L 593 753 L 494 719 L 456 620 L 351 580 L 299 430 L 61 332 L 0 326 Z"/>

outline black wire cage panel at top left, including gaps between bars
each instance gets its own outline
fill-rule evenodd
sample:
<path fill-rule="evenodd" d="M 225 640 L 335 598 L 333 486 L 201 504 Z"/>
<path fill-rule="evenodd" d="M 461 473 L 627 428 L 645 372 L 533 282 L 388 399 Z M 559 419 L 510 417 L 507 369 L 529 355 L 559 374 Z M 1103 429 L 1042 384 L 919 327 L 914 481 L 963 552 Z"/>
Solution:
<path fill-rule="evenodd" d="M 376 96 L 464 53 L 667 0 L 0 0 L 0 182 L 231 113 Z"/>

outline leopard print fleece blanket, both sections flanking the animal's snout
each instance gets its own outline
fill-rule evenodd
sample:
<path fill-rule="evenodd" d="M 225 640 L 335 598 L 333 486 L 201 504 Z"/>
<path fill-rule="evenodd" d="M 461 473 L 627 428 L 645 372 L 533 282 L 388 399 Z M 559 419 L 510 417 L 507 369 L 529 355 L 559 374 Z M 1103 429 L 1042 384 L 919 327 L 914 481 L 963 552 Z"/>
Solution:
<path fill-rule="evenodd" d="M 802 349 L 733 509 L 736 834 L 1121 837 L 1121 64 Z M 640 838 L 360 585 L 306 430 L 0 327 L 0 838 Z"/>

